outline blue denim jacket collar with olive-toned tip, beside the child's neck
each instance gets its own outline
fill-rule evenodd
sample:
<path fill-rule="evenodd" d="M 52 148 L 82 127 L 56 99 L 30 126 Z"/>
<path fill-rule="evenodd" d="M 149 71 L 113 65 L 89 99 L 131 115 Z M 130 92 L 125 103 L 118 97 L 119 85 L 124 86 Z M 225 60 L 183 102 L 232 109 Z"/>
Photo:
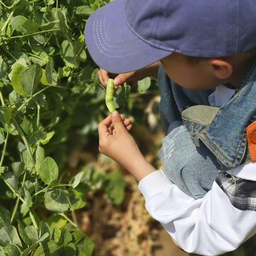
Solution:
<path fill-rule="evenodd" d="M 192 106 L 181 116 L 195 145 L 202 141 L 228 169 L 247 161 L 246 127 L 256 119 L 256 62 L 226 104 Z"/>

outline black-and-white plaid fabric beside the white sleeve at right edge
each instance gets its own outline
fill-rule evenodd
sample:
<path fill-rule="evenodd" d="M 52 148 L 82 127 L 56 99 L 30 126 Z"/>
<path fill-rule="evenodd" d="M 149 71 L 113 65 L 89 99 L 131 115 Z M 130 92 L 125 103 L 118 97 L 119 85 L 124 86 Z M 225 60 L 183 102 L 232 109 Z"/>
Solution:
<path fill-rule="evenodd" d="M 219 172 L 215 182 L 239 210 L 256 211 L 256 181 L 245 180 Z"/>

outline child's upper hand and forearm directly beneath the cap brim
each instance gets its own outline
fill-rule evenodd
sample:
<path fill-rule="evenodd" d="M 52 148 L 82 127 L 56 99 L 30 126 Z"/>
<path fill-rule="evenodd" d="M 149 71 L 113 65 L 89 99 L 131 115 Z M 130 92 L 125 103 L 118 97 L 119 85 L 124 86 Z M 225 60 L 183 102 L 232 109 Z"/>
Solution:
<path fill-rule="evenodd" d="M 135 70 L 129 73 L 123 73 L 123 74 L 112 74 L 108 71 L 100 68 L 98 71 L 98 77 L 100 79 L 100 83 L 102 86 L 106 88 L 108 78 L 114 79 L 114 85 L 115 85 L 115 91 L 117 90 L 118 86 L 127 82 L 127 81 L 140 81 L 145 77 L 151 76 L 151 77 L 157 77 L 158 75 L 158 69 L 161 65 L 160 61 L 157 61 L 145 68 L 141 68 L 139 70 Z"/>

